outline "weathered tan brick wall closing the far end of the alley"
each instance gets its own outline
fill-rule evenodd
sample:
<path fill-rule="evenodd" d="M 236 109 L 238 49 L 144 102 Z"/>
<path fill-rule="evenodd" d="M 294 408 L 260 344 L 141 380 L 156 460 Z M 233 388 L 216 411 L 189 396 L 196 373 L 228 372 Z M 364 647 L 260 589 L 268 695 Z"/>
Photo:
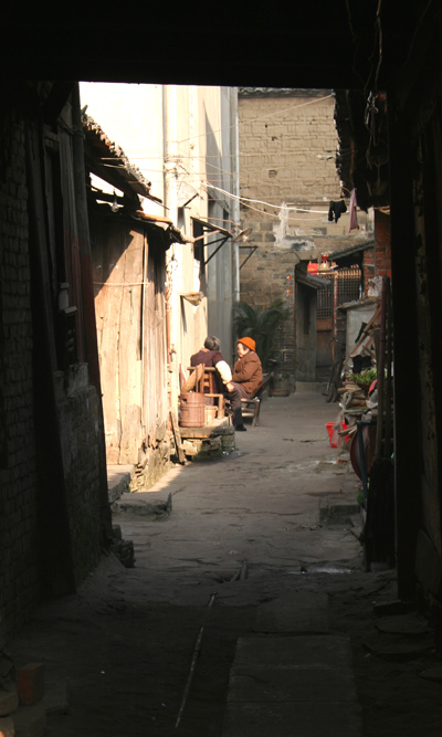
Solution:
<path fill-rule="evenodd" d="M 240 196 L 254 200 L 241 202 L 241 228 L 252 229 L 249 243 L 257 246 L 240 269 L 241 299 L 263 307 L 284 299 L 291 319 L 277 336 L 277 347 L 293 375 L 295 306 L 290 276 L 296 263 L 371 236 L 364 212 L 358 212 L 359 230 L 349 234 L 349 197 L 347 212 L 337 222 L 328 220 L 330 201 L 341 199 L 334 107 L 327 91 L 239 95 Z M 250 253 L 250 248 L 241 248 L 240 265 Z"/>

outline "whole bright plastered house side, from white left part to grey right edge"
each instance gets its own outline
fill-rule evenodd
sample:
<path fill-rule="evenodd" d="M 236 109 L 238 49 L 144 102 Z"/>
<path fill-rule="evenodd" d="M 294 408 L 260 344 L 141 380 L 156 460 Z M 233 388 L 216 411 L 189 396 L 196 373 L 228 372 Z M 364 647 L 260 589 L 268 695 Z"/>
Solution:
<path fill-rule="evenodd" d="M 219 189 L 230 190 L 231 170 L 231 105 L 235 96 L 228 87 L 196 85 L 134 85 L 82 83 L 82 105 L 107 135 L 125 150 L 144 176 L 152 182 L 154 194 L 164 197 L 164 210 L 144 201 L 144 209 L 155 214 L 166 214 L 173 223 L 179 217 L 187 234 L 192 235 L 190 215 L 208 219 L 209 193 L 217 202 L 220 224 L 224 210 L 232 219 L 232 200 L 218 189 L 209 192 L 207 182 Z M 166 144 L 166 147 L 165 147 Z M 166 160 L 164 160 L 166 148 Z M 166 191 L 164 191 L 166 169 Z M 180 201 L 197 194 L 186 207 Z M 167 199 L 167 201 L 166 201 Z M 208 251 L 208 250 L 207 250 Z M 172 246 L 168 252 L 168 270 L 171 292 L 172 354 L 171 396 L 177 398 L 179 364 L 187 365 L 190 355 L 201 344 L 208 331 L 220 335 L 224 350 L 231 351 L 232 257 L 231 246 L 225 244 L 210 262 L 208 304 L 204 309 L 188 307 L 182 318 L 181 293 L 198 292 L 200 284 L 194 276 L 191 245 Z M 206 324 L 201 326 L 201 320 Z"/>

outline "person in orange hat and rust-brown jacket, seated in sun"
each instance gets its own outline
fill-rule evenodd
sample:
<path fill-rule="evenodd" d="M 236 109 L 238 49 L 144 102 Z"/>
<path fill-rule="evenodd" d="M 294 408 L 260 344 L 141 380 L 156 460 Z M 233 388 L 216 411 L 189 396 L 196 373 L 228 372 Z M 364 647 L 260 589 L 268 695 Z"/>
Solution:
<path fill-rule="evenodd" d="M 238 391 L 240 398 L 251 399 L 260 386 L 262 381 L 262 366 L 255 349 L 256 344 L 253 338 L 245 336 L 238 340 L 236 350 L 239 358 L 233 367 L 232 381 L 225 385 L 228 398 L 229 393 L 233 396 L 233 392 Z M 234 428 L 243 432 L 246 428 L 242 419 L 241 401 L 232 401 L 231 403 Z"/>

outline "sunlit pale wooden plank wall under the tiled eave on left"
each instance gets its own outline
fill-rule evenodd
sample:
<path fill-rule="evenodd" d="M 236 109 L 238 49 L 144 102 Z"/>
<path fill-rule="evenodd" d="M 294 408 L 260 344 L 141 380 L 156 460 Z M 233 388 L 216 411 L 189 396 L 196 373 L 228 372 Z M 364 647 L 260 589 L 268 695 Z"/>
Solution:
<path fill-rule="evenodd" d="M 168 414 L 165 254 L 143 225 L 95 213 L 91 223 L 106 459 L 137 464 Z"/>

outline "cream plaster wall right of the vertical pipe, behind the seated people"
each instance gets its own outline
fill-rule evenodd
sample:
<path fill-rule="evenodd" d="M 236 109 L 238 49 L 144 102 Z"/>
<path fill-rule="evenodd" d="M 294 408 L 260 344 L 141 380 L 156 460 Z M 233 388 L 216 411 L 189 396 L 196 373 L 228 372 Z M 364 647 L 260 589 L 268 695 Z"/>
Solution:
<path fill-rule="evenodd" d="M 229 227 L 223 219 L 231 211 L 231 200 L 219 189 L 230 182 L 231 134 L 224 123 L 230 120 L 230 92 L 218 86 L 181 86 L 177 88 L 177 118 L 173 160 L 175 180 L 170 179 L 169 190 L 177 189 L 196 194 L 183 213 L 186 232 L 193 235 L 191 217 L 209 220 L 211 224 Z M 170 149 L 171 150 L 171 149 Z M 212 186 L 212 188 L 208 185 Z M 224 211 L 228 213 L 224 214 Z M 210 218 L 212 215 L 212 218 Z M 173 209 L 168 217 L 177 220 Z M 217 236 L 214 236 L 217 238 Z M 217 248 L 217 246 L 214 246 Z M 204 248 L 207 260 L 214 248 Z M 231 245 L 225 245 L 211 259 L 200 280 L 196 272 L 193 248 L 172 246 L 168 252 L 169 273 L 172 289 L 172 397 L 177 396 L 179 364 L 189 365 L 208 333 L 221 338 L 223 350 L 230 352 L 231 303 L 232 303 L 232 257 Z M 206 284 L 206 286 L 204 286 Z M 198 292 L 207 288 L 207 298 L 198 307 L 181 304 L 180 293 Z"/>

